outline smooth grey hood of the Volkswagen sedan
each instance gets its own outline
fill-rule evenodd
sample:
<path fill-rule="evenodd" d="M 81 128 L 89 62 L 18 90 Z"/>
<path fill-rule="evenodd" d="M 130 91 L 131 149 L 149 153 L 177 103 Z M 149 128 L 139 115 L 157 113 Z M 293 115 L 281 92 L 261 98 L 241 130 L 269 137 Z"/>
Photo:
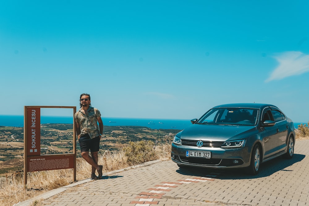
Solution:
<path fill-rule="evenodd" d="M 186 140 L 227 141 L 246 139 L 256 131 L 256 126 L 193 124 L 177 134 Z"/>

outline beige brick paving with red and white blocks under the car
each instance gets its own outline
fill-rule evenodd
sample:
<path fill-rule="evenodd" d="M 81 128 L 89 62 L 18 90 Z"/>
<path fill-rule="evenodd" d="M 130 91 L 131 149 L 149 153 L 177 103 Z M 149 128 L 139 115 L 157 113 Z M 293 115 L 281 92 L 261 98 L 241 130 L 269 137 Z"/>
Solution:
<path fill-rule="evenodd" d="M 46 205 L 309 205 L 309 140 L 294 157 L 239 170 L 179 169 L 172 161 L 110 174 L 56 194 Z"/>

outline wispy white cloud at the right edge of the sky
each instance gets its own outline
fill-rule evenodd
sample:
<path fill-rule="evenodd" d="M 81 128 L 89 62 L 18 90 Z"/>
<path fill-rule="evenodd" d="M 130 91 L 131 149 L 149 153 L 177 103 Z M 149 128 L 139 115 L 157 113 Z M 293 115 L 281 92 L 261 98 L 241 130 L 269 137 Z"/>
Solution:
<path fill-rule="evenodd" d="M 279 65 L 265 82 L 309 72 L 309 55 L 302 52 L 284 52 L 274 57 Z"/>

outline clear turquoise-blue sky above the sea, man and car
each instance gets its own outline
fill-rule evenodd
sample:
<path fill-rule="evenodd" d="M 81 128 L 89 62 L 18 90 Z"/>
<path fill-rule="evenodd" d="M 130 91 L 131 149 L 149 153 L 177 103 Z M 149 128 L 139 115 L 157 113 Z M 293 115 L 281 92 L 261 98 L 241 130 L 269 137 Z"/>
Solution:
<path fill-rule="evenodd" d="M 309 1 L 1 1 L 0 115 L 24 105 L 193 119 L 218 104 L 308 122 Z M 66 109 L 43 115 L 71 114 Z"/>

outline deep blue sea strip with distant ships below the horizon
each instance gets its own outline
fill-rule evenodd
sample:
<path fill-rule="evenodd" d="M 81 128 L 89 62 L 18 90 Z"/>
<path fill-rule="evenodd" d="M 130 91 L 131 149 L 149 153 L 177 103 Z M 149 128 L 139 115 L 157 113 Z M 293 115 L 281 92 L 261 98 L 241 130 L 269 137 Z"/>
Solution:
<path fill-rule="evenodd" d="M 191 125 L 190 120 L 173 119 L 138 119 L 138 118 L 114 118 L 103 117 L 103 124 L 106 126 L 142 126 L 151 129 L 184 129 Z M 73 124 L 73 117 L 65 116 L 41 116 L 41 124 L 58 123 Z M 300 123 L 294 122 L 294 127 L 298 128 Z M 0 115 L 0 126 L 23 127 L 23 116 Z"/>

